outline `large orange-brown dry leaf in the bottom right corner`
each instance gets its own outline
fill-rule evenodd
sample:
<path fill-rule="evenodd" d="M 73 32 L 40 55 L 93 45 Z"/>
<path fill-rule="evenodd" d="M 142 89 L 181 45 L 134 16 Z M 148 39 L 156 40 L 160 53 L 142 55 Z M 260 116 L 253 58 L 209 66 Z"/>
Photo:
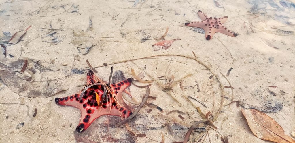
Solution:
<path fill-rule="evenodd" d="M 284 129 L 267 114 L 256 109 L 242 109 L 253 134 L 264 140 L 280 143 L 295 143 L 295 140 L 285 134 Z"/>

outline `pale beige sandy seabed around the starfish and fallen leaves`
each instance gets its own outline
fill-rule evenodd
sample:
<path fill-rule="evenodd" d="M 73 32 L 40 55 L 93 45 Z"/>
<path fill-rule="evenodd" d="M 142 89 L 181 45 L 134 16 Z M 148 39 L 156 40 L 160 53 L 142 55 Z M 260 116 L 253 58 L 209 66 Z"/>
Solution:
<path fill-rule="evenodd" d="M 7 38 L 2 32 L 9 31 L 13 35 L 31 27 L 21 41 L 6 47 L 6 58 L 1 55 L 0 142 L 161 142 L 161 132 L 165 142 L 179 142 L 183 141 L 189 127 L 201 120 L 196 107 L 204 114 L 210 111 L 213 117 L 218 115 L 214 122 L 217 129 L 194 132 L 189 142 L 222 142 L 222 136 L 228 136 L 229 142 L 267 142 L 254 136 L 241 112 L 251 107 L 266 112 L 287 135 L 295 132 L 295 28 L 292 25 L 295 8 L 285 8 L 278 1 L 274 1 L 277 8 L 257 1 L 221 0 L 220 3 L 223 8 L 217 7 L 214 1 L 201 0 L 1 0 L 2 41 Z M 250 11 L 255 4 L 256 8 Z M 201 21 L 199 10 L 208 16 L 228 16 L 224 26 L 238 36 L 217 33 L 207 41 L 204 34 L 190 30 L 184 23 Z M 89 28 L 90 19 L 92 28 Z M 166 40 L 181 40 L 174 41 L 169 49 L 154 51 L 152 45 L 160 41 L 154 37 L 160 38 L 166 26 L 169 26 Z M 192 51 L 211 72 L 193 59 L 173 56 L 195 58 Z M 164 54 L 172 56 L 138 59 Z M 39 61 L 51 70 L 29 60 L 27 69 L 34 70 L 35 79 L 24 81 L 22 78 L 26 76 L 20 78 L 22 74 L 17 71 L 22 69 L 25 58 Z M 148 102 L 158 105 L 163 112 L 144 106 L 129 123 L 131 129 L 145 133 L 146 137 L 135 138 L 124 127 L 115 128 L 114 124 L 120 119 L 112 116 L 96 119 L 82 134 L 75 132 L 80 111 L 57 105 L 54 99 L 81 90 L 76 86 L 85 84 L 86 71 L 77 71 L 88 68 L 86 59 L 94 67 L 137 59 L 112 65 L 127 78 L 132 77 L 131 69 L 139 74 L 145 66 L 144 79 L 158 79 L 165 74 L 174 76 L 170 89 L 160 86 L 165 80 L 156 80 L 150 86 L 150 96 L 156 99 L 148 99 Z M 230 68 L 227 79 L 233 87 L 233 96 L 230 88 L 221 88 L 217 82 L 219 79 L 220 84 L 230 86 L 222 76 Z M 107 81 L 110 69 L 111 66 L 96 68 L 96 75 Z M 217 76 L 209 79 L 212 72 Z M 69 73 L 72 74 L 67 78 L 51 80 Z M 28 72 L 24 74 L 30 76 Z M 180 83 L 186 89 L 181 89 Z M 190 86 L 194 88 L 187 88 Z M 225 98 L 222 98 L 223 90 Z M 130 91 L 133 98 L 124 95 L 126 102 L 141 102 L 145 89 L 132 85 Z M 236 107 L 233 103 L 220 109 L 221 104 L 230 103 L 232 98 L 241 105 Z M 37 114 L 33 117 L 35 108 Z M 149 109 L 152 111 L 147 113 Z M 171 110 L 184 114 L 166 115 Z M 171 126 L 173 135 L 165 123 Z M 199 128 L 199 131 L 204 129 Z"/>

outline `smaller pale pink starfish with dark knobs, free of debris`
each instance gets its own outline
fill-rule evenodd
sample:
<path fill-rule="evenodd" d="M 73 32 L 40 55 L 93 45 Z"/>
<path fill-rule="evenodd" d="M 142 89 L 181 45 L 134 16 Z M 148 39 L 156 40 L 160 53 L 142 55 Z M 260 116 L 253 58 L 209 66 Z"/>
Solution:
<path fill-rule="evenodd" d="M 222 24 L 227 20 L 227 16 L 221 17 L 221 18 L 208 18 L 206 14 L 204 14 L 202 11 L 198 11 L 198 15 L 202 19 L 202 21 L 194 21 L 194 22 L 188 22 L 185 23 L 186 26 L 190 27 L 199 27 L 205 30 L 205 37 L 207 40 L 210 40 L 213 35 L 217 32 L 223 33 L 228 36 L 235 37 L 237 34 L 234 32 L 227 30 Z"/>

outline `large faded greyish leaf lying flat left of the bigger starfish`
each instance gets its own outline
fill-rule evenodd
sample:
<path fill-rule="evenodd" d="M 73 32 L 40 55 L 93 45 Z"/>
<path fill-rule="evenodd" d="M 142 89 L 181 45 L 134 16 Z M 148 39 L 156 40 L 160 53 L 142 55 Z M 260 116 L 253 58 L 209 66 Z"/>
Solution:
<path fill-rule="evenodd" d="M 31 82 L 35 79 L 40 81 L 42 75 L 49 74 L 51 71 L 45 70 L 35 63 L 30 62 L 27 66 L 26 75 L 17 72 L 23 66 L 23 60 L 16 61 L 2 59 L 0 61 L 0 78 L 2 82 L 12 92 L 24 97 L 39 97 L 46 98 L 57 94 L 60 91 L 68 90 L 69 86 L 63 84 L 63 80 L 49 80 L 44 82 Z M 29 71 L 30 70 L 30 71 Z M 55 72 L 56 73 L 56 72 Z M 33 74 L 34 76 L 30 75 Z M 21 78 L 25 76 L 24 78 Z"/>

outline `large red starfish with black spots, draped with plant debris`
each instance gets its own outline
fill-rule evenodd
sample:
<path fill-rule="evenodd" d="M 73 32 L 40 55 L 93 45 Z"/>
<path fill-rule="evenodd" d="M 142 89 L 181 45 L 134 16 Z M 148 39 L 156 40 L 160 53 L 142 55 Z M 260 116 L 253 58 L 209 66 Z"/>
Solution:
<path fill-rule="evenodd" d="M 98 81 L 97 81 L 98 80 Z M 88 88 L 80 101 L 79 97 L 83 90 L 77 94 L 64 98 L 55 98 L 55 103 L 59 105 L 68 105 L 79 108 L 81 110 L 81 120 L 76 128 L 78 132 L 85 131 L 95 119 L 102 115 L 119 116 L 122 119 L 129 117 L 134 109 L 129 107 L 122 98 L 122 92 L 131 84 L 131 79 L 112 84 L 110 87 L 107 82 L 102 81 L 94 75 L 92 70 L 87 73 L 87 85 L 93 85 Z M 103 99 L 104 88 L 106 88 L 106 97 Z M 103 100 L 102 102 L 98 101 Z M 102 103 L 101 105 L 99 105 Z"/>

